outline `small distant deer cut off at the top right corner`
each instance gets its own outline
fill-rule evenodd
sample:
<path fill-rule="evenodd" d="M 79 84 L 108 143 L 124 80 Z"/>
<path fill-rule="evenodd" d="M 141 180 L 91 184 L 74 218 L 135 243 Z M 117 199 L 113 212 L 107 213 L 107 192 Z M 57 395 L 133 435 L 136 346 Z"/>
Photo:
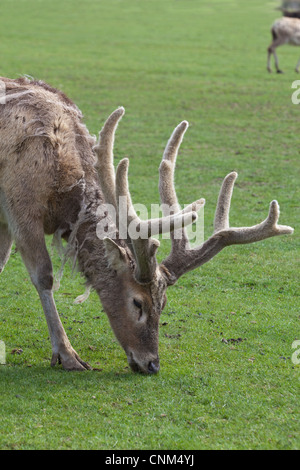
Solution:
<path fill-rule="evenodd" d="M 271 69 L 271 56 L 273 54 L 275 60 L 275 67 L 277 73 L 283 73 L 279 68 L 278 57 L 276 54 L 276 48 L 283 44 L 291 44 L 292 46 L 300 46 L 300 19 L 282 17 L 276 20 L 271 28 L 272 43 L 268 47 L 268 63 L 267 69 L 272 72 Z M 295 71 L 299 73 L 300 59 L 297 62 Z"/>

